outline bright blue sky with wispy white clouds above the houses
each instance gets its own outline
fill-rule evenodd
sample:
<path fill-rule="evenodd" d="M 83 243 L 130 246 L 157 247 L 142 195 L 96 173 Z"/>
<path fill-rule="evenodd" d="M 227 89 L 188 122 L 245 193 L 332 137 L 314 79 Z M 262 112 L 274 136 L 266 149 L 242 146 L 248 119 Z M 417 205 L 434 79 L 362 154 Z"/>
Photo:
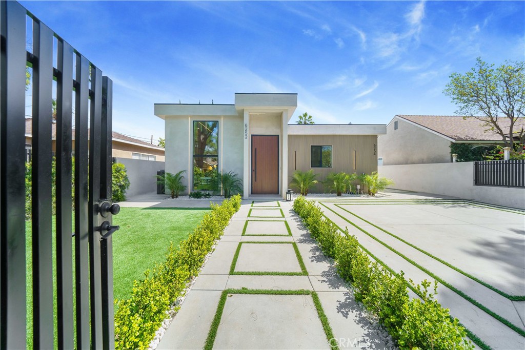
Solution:
<path fill-rule="evenodd" d="M 164 136 L 154 103 L 296 92 L 316 123 L 454 114 L 476 57 L 523 60 L 525 2 L 22 1 L 114 83 L 113 129 Z"/>

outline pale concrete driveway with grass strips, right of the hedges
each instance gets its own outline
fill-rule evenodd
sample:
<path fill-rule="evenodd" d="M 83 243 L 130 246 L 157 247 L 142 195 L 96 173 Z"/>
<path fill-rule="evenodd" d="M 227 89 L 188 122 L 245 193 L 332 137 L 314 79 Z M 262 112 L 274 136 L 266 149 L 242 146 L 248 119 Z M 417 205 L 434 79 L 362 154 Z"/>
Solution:
<path fill-rule="evenodd" d="M 438 301 L 489 346 L 525 348 L 523 211 L 409 193 L 318 203 L 406 279 L 442 282 Z"/>

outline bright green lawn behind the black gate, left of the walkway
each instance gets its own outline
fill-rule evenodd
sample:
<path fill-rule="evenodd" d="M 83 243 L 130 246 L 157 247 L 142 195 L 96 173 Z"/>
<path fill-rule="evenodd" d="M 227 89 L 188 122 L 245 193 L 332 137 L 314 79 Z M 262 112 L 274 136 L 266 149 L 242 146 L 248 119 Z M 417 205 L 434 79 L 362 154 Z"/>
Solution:
<path fill-rule="evenodd" d="M 165 259 L 170 246 L 184 240 L 201 222 L 206 208 L 121 208 L 113 217 L 120 230 L 113 234 L 113 288 L 114 298 L 125 299 L 131 293 L 133 280 L 142 279 L 144 271 Z M 55 217 L 53 217 L 53 289 L 56 296 Z M 75 241 L 73 253 L 75 254 Z M 71 258 L 75 267 L 74 257 Z M 75 274 L 75 271 L 73 272 Z M 33 281 L 31 280 L 31 221 L 26 221 L 26 299 L 27 348 L 33 348 Z M 73 276 L 75 283 L 75 276 Z M 75 289 L 74 289 L 75 292 Z M 57 307 L 54 300 L 54 313 Z M 55 348 L 56 316 L 55 319 Z"/>

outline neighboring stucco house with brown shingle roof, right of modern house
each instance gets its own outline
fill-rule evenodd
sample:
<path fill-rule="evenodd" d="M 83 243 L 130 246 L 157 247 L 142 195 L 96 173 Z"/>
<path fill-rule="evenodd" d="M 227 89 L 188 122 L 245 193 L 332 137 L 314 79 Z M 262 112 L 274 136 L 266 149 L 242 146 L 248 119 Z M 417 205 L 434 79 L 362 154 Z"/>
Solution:
<path fill-rule="evenodd" d="M 507 118 L 498 119 L 498 123 L 508 131 Z M 487 127 L 482 124 L 469 116 L 396 115 L 386 126 L 386 135 L 379 137 L 378 162 L 380 165 L 449 163 L 451 143 L 502 145 L 501 136 L 485 131 Z M 514 124 L 514 131 L 521 129 L 521 125 L 523 121 Z"/>

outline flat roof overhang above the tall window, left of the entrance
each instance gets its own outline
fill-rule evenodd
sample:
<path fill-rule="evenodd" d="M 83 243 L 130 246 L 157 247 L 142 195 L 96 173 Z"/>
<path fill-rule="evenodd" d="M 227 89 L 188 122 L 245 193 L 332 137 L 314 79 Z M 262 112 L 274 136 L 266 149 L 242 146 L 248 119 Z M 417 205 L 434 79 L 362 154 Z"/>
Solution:
<path fill-rule="evenodd" d="M 166 116 L 239 116 L 233 104 L 155 103 L 155 115 Z"/>

